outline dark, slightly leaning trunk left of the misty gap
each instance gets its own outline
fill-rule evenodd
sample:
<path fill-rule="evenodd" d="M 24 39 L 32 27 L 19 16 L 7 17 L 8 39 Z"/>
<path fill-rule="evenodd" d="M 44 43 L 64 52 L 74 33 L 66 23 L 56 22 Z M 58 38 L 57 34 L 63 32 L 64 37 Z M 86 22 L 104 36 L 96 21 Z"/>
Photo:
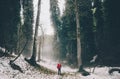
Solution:
<path fill-rule="evenodd" d="M 35 34 L 33 39 L 33 53 L 30 59 L 32 65 L 36 65 L 36 53 L 37 53 L 37 36 L 38 36 L 38 27 L 40 21 L 40 9 L 41 9 L 41 0 L 38 0 L 38 10 L 37 10 L 37 18 L 35 24 Z"/>

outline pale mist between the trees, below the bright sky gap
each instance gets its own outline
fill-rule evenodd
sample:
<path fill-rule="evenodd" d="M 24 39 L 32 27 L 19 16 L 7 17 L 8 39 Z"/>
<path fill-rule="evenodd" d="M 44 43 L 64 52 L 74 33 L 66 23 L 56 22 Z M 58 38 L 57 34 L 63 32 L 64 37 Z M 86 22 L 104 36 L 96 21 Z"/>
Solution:
<path fill-rule="evenodd" d="M 57 60 L 59 54 L 59 45 L 55 41 L 54 35 L 45 35 L 44 43 L 41 50 L 41 59 L 42 60 Z M 38 49 L 39 50 L 39 49 Z"/>

